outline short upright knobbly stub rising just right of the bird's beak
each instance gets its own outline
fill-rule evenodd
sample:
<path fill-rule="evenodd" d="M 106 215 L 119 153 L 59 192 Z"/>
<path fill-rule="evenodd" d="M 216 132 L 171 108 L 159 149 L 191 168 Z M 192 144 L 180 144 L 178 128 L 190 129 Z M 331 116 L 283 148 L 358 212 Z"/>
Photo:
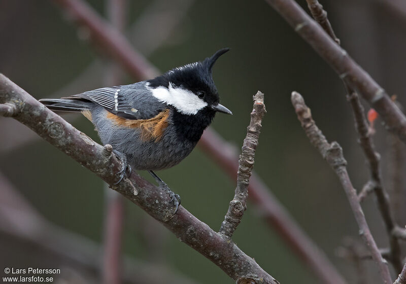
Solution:
<path fill-rule="evenodd" d="M 247 209 L 248 185 L 250 184 L 251 172 L 254 167 L 255 150 L 258 145 L 262 118 L 266 113 L 263 93 L 258 91 L 253 96 L 253 100 L 254 107 L 251 113 L 251 121 L 247 127 L 247 136 L 244 139 L 239 160 L 237 187 L 219 231 L 220 234 L 228 239 L 231 239 L 232 234 L 243 218 L 244 211 Z"/>

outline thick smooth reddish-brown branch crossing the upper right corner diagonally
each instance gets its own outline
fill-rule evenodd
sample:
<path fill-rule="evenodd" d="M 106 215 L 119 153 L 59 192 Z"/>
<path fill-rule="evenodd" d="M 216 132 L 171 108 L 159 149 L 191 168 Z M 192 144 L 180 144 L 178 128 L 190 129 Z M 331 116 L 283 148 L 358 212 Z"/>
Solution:
<path fill-rule="evenodd" d="M 372 79 L 329 35 L 293 0 L 266 0 L 331 65 L 341 79 L 373 107 L 387 129 L 406 143 L 406 117 L 385 90 Z"/>

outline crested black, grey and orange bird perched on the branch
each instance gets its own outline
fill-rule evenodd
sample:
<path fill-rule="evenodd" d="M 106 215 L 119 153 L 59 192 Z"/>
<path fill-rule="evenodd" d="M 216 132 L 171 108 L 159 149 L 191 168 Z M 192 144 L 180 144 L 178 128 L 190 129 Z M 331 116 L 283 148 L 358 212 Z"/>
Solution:
<path fill-rule="evenodd" d="M 175 214 L 180 196 L 154 171 L 186 158 L 217 112 L 232 115 L 220 104 L 212 76 L 214 63 L 227 51 L 220 49 L 150 80 L 40 102 L 55 112 L 82 113 L 94 124 L 101 143 L 110 144 L 121 161 L 116 184 L 131 168 L 147 170 L 170 196 Z"/>

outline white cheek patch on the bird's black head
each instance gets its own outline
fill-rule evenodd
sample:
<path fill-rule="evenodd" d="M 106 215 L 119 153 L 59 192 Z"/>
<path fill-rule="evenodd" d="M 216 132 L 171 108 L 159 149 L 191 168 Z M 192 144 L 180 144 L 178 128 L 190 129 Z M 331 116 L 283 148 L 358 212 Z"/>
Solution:
<path fill-rule="evenodd" d="M 180 113 L 186 115 L 195 115 L 199 110 L 206 107 L 208 103 L 191 91 L 183 88 L 174 87 L 172 83 L 169 84 L 169 88 L 147 88 L 152 92 L 152 95 L 159 101 L 175 107 Z"/>

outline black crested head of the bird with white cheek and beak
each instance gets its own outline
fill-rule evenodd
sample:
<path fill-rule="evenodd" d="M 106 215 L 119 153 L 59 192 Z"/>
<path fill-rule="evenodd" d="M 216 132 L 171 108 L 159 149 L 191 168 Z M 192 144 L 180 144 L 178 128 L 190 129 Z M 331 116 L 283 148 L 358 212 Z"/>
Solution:
<path fill-rule="evenodd" d="M 231 115 L 231 111 L 219 103 L 219 94 L 212 77 L 214 63 L 228 50 L 228 48 L 220 49 L 202 62 L 169 70 L 147 81 L 148 88 L 157 99 L 172 105 L 185 115 L 195 115 L 203 110 Z"/>

